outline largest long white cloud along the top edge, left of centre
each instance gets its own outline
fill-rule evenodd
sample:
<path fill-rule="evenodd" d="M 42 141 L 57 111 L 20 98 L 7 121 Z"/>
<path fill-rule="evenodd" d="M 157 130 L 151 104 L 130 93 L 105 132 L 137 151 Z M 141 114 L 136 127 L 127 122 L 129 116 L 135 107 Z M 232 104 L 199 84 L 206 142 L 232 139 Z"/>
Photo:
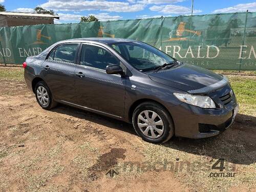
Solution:
<path fill-rule="evenodd" d="M 129 4 L 127 2 L 105 1 L 105 0 L 49 0 L 47 3 L 40 5 L 45 9 L 54 11 L 83 11 L 83 10 L 100 10 L 111 12 L 135 12 L 143 10 L 143 4 Z"/>

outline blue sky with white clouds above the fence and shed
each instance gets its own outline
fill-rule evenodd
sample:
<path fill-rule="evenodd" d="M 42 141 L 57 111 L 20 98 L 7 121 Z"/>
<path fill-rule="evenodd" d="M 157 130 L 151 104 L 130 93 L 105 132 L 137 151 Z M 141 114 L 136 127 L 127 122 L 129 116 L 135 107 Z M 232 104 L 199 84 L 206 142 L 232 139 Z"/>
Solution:
<path fill-rule="evenodd" d="M 7 11 L 33 12 L 36 6 L 54 10 L 55 23 L 78 23 L 81 16 L 99 20 L 137 19 L 191 14 L 191 0 L 0 0 Z M 256 11 L 251 0 L 194 0 L 194 14 Z"/>

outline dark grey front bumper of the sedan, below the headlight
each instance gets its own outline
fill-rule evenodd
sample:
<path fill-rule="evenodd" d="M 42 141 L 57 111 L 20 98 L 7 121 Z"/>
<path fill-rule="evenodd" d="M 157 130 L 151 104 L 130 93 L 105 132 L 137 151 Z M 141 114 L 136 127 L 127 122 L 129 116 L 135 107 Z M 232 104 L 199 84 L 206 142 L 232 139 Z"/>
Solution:
<path fill-rule="evenodd" d="M 219 109 L 202 109 L 181 103 L 169 108 L 175 125 L 175 135 L 193 139 L 220 134 L 230 127 L 238 112 L 238 103 L 233 95 L 231 101 Z"/>

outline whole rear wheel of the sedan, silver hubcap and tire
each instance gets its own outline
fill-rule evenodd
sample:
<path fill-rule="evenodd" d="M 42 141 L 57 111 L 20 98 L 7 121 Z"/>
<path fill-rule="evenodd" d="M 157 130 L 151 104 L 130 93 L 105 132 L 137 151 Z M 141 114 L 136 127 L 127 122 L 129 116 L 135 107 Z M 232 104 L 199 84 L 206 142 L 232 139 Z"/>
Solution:
<path fill-rule="evenodd" d="M 44 81 L 36 83 L 35 97 L 42 109 L 50 110 L 57 105 L 57 102 L 53 100 L 50 89 Z"/>

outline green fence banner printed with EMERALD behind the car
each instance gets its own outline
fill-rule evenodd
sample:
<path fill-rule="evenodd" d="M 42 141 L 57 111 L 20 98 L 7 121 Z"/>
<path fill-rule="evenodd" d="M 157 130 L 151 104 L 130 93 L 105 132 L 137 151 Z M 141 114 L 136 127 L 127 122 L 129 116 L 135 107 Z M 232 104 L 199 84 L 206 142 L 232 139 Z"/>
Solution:
<path fill-rule="evenodd" d="M 141 40 L 207 69 L 256 70 L 256 12 L 0 28 L 0 62 L 22 64 L 57 41 Z"/>

